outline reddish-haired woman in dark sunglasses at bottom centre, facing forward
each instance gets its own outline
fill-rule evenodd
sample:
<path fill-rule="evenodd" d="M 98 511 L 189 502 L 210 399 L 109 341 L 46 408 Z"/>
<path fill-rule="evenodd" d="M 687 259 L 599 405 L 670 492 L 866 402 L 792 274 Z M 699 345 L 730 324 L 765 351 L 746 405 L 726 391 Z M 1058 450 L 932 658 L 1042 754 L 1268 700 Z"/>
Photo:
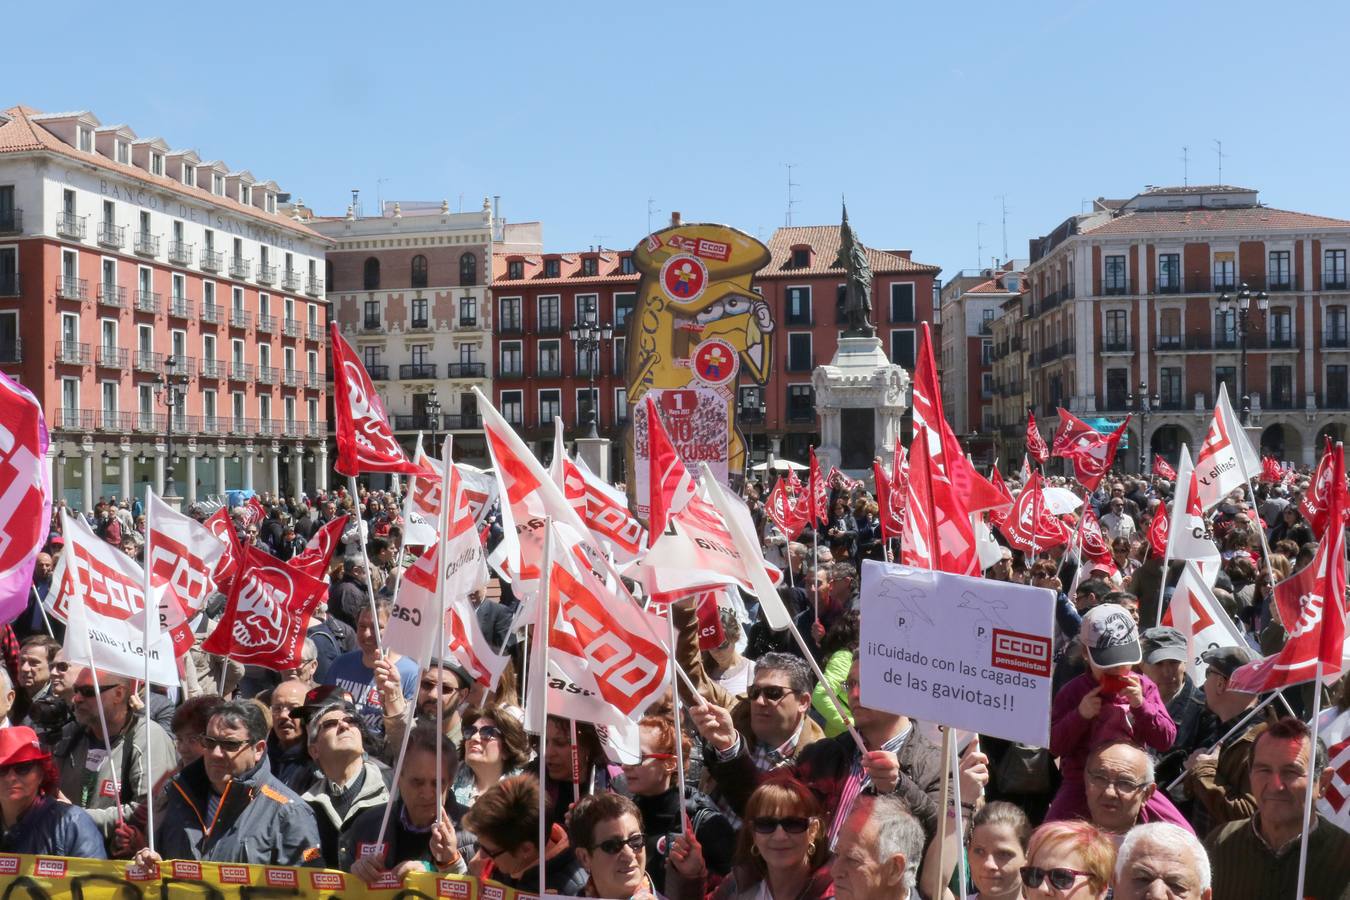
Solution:
<path fill-rule="evenodd" d="M 775 773 L 745 803 L 736 866 L 714 900 L 817 900 L 833 896 L 825 814 L 811 789 Z"/>

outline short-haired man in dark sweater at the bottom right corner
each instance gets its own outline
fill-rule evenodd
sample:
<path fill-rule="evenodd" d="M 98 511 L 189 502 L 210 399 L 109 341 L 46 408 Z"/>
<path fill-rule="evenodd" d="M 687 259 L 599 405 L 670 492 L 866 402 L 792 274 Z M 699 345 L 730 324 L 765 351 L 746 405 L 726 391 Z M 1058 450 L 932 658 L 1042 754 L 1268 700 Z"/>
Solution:
<path fill-rule="evenodd" d="M 1292 897 L 1299 878 L 1299 845 L 1308 841 L 1304 896 L 1336 900 L 1350 892 L 1350 834 L 1322 814 L 1304 830 L 1304 801 L 1314 810 L 1331 781 L 1327 749 L 1312 746 L 1308 726 L 1287 716 L 1273 722 L 1251 749 L 1250 819 L 1220 826 L 1206 839 L 1214 864 L 1214 893 L 1223 900 Z"/>

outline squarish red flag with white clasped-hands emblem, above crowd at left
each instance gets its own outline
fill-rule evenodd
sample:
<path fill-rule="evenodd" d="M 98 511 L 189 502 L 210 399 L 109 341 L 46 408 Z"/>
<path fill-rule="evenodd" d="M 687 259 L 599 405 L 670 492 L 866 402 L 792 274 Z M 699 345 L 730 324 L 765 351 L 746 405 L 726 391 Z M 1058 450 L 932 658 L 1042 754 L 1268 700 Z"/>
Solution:
<path fill-rule="evenodd" d="M 225 611 L 201 649 L 274 672 L 300 668 L 309 617 L 327 598 L 319 579 L 247 546 Z"/>

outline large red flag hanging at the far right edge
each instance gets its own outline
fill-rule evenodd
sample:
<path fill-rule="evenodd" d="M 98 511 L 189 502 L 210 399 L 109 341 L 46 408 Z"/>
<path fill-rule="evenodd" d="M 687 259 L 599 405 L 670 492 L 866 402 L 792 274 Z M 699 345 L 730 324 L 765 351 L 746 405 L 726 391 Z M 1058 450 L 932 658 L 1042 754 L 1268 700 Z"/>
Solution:
<path fill-rule="evenodd" d="M 1339 522 L 1346 509 L 1345 447 L 1336 444 L 1331 461 L 1328 522 Z M 1230 691 L 1264 694 L 1318 676 L 1341 675 L 1346 641 L 1346 530 L 1328 528 L 1310 565 L 1274 586 L 1274 600 L 1289 633 L 1284 648 L 1247 663 L 1228 679 Z"/>

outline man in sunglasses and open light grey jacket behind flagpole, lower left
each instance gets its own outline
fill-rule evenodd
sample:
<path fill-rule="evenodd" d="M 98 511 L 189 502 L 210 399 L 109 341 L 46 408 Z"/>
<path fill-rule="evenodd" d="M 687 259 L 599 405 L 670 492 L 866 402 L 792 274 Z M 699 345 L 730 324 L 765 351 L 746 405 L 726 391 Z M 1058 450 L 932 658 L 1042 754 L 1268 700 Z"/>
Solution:
<path fill-rule="evenodd" d="M 178 752 L 173 738 L 157 722 L 150 722 L 154 769 L 147 769 L 146 721 L 142 712 L 132 710 L 132 683 L 111 672 L 97 676 L 96 687 L 94 671 L 80 669 L 74 684 L 74 722 L 66 725 L 53 756 L 59 761 L 61 792 L 89 812 L 107 841 L 117 822 L 130 819 L 146 801 L 150 787 L 177 768 Z M 108 741 L 104 739 L 104 723 Z"/>

